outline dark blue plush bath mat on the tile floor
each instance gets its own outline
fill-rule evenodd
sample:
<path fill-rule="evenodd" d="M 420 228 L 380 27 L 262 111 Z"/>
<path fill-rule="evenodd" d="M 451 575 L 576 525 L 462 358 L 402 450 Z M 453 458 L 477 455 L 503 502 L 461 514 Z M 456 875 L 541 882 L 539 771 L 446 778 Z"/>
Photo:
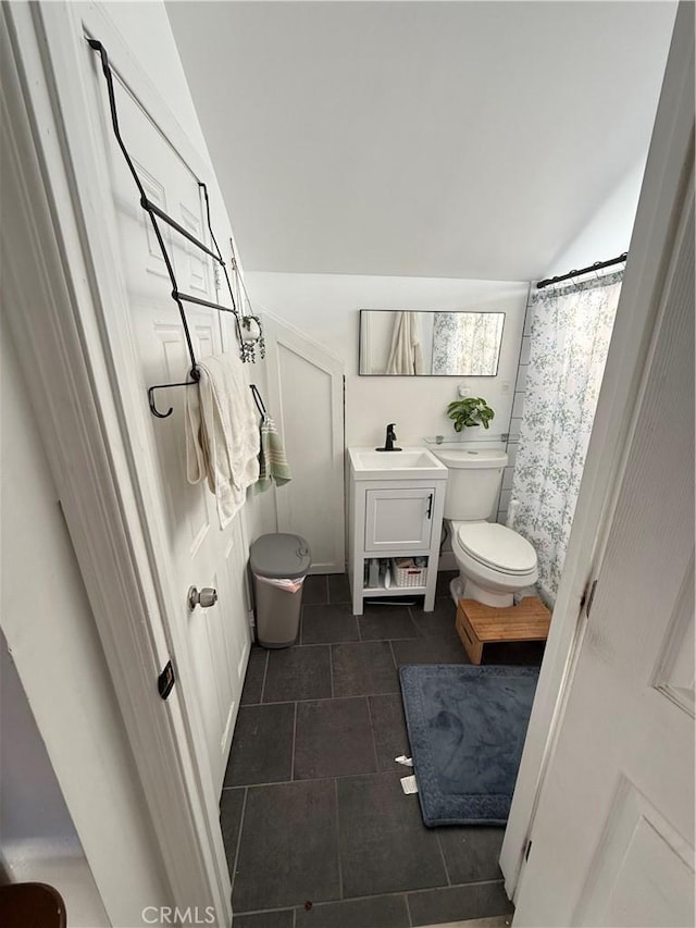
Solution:
<path fill-rule="evenodd" d="M 538 673 L 536 667 L 401 667 L 425 825 L 507 822 Z"/>

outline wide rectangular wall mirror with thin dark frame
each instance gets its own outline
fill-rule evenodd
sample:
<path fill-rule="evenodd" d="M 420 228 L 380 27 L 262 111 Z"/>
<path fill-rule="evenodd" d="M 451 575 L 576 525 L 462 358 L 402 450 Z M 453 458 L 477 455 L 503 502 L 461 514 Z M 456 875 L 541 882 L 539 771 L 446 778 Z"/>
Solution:
<path fill-rule="evenodd" d="M 360 310 L 359 373 L 494 378 L 505 312 Z"/>

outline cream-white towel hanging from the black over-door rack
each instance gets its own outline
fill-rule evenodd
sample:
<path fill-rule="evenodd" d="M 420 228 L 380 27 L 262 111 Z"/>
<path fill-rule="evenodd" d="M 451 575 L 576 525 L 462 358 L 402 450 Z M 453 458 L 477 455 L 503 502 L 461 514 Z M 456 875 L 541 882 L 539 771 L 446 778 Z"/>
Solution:
<path fill-rule="evenodd" d="M 186 475 L 208 479 L 224 529 L 259 479 L 259 429 L 241 361 L 224 355 L 197 367 L 198 387 L 186 391 Z"/>

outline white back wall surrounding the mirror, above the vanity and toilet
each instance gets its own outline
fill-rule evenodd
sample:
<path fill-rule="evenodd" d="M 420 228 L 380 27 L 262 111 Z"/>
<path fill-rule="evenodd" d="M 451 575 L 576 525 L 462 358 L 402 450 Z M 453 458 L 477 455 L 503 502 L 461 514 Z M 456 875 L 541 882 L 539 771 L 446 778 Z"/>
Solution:
<path fill-rule="evenodd" d="M 257 311 L 290 323 L 338 356 L 346 369 L 346 445 L 384 444 L 385 425 L 396 422 L 398 442 L 422 444 L 425 436 L 455 436 L 445 416 L 459 384 L 485 397 L 496 418 L 490 436 L 510 422 L 518 370 L 526 283 L 343 274 L 249 273 L 247 287 Z M 360 309 L 469 309 L 506 313 L 496 378 L 386 378 L 358 375 Z M 309 410 L 308 410 L 309 414 Z"/>

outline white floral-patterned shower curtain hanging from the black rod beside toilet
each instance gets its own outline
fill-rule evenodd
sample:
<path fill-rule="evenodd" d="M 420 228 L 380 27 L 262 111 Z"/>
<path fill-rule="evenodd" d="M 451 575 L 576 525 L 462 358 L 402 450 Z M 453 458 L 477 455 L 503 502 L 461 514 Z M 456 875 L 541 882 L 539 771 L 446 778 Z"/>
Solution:
<path fill-rule="evenodd" d="M 552 602 L 563 569 L 623 271 L 531 298 L 532 350 L 512 479 L 514 529 Z"/>

